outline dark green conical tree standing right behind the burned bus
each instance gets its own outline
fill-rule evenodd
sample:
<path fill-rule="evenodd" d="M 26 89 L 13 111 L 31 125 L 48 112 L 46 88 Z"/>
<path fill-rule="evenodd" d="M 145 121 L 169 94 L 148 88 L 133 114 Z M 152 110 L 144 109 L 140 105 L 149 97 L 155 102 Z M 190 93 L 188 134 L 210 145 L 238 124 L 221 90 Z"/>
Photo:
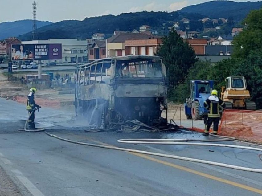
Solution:
<path fill-rule="evenodd" d="M 163 57 L 166 65 L 169 80 L 168 92 L 169 96 L 172 96 L 174 88 L 185 81 L 190 67 L 197 61 L 195 52 L 173 28 L 169 35 L 163 38 L 163 45 L 157 55 Z"/>

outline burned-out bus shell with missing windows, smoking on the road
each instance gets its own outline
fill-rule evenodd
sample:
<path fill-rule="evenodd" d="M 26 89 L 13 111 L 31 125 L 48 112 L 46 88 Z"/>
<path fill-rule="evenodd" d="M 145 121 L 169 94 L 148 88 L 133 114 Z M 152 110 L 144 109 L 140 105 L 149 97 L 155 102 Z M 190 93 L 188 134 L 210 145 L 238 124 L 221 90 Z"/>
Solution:
<path fill-rule="evenodd" d="M 128 55 L 78 66 L 75 108 L 76 116 L 104 129 L 128 120 L 153 126 L 166 124 L 166 68 L 162 58 Z"/>

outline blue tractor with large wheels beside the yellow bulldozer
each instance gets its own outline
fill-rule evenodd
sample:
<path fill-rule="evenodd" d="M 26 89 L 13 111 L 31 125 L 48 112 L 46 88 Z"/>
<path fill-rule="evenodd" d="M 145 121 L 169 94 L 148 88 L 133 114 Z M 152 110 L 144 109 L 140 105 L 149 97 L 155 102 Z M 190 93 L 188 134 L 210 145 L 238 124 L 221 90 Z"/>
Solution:
<path fill-rule="evenodd" d="M 210 96 L 213 85 L 213 80 L 190 81 L 190 95 L 184 104 L 187 119 L 202 120 L 204 116 L 207 116 L 204 101 Z"/>

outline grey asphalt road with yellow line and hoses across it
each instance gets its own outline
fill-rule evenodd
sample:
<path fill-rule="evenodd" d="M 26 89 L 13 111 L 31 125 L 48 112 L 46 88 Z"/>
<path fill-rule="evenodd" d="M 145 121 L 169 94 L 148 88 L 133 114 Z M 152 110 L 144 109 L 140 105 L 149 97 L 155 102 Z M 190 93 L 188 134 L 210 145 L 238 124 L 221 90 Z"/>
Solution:
<path fill-rule="evenodd" d="M 81 146 L 17 131 L 25 106 L 0 99 L 0 166 L 23 195 L 261 195 L 262 175 L 217 166 Z M 71 113 L 43 108 L 37 126 L 61 137 L 261 168 L 259 153 L 203 146 L 118 144 L 123 138 L 202 138 L 199 133 L 86 133 Z M 82 122 L 83 123 L 83 122 Z M 228 144 L 247 145 L 242 142 Z"/>

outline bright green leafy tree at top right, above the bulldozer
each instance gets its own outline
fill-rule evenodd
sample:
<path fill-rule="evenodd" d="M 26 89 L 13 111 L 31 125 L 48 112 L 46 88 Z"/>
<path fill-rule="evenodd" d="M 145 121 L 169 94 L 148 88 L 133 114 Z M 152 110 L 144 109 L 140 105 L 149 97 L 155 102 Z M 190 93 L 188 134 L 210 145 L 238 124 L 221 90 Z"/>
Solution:
<path fill-rule="evenodd" d="M 243 24 L 247 28 L 233 40 L 234 58 L 246 58 L 252 51 L 262 50 L 262 9 L 251 11 Z"/>

